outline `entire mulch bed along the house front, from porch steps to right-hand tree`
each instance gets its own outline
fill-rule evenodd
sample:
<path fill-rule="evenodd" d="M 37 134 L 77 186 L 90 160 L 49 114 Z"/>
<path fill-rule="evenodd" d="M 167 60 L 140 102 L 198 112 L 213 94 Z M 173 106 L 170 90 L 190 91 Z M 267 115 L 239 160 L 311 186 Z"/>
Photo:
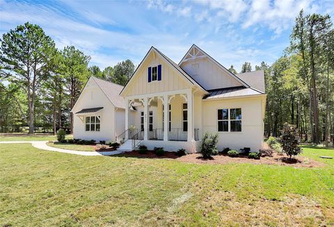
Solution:
<path fill-rule="evenodd" d="M 274 154 L 273 157 L 261 157 L 260 159 L 249 159 L 248 157 L 229 157 L 228 155 L 215 155 L 211 159 L 203 159 L 200 154 L 189 154 L 182 157 L 177 156 L 176 152 L 165 152 L 164 156 L 158 157 L 154 151 L 148 151 L 147 154 L 139 154 L 138 150 L 125 152 L 121 157 L 138 157 L 138 158 L 159 158 L 159 159 L 176 159 L 180 162 L 189 162 L 196 164 L 230 164 L 230 163 L 248 163 L 248 164 L 276 164 L 280 166 L 299 167 L 323 167 L 326 164 L 317 162 L 308 157 L 296 157 L 289 159 L 285 155 Z"/>

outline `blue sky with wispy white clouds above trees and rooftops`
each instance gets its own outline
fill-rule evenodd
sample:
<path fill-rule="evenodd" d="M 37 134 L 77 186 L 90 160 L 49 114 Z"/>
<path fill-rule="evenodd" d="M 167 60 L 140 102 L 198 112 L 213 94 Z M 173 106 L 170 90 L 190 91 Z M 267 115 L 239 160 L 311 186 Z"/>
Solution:
<path fill-rule="evenodd" d="M 151 46 L 179 63 L 195 43 L 239 72 L 282 56 L 302 8 L 334 16 L 334 0 L 0 0 L 0 35 L 38 24 L 58 49 L 74 45 L 102 70 L 127 58 L 138 65 Z"/>

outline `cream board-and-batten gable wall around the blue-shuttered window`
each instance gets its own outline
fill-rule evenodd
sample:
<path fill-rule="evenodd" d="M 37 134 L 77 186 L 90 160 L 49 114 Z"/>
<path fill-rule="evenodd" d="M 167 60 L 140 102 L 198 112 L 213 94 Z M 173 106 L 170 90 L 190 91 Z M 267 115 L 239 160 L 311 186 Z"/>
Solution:
<path fill-rule="evenodd" d="M 161 81 L 151 81 L 148 83 L 148 67 L 161 65 Z M 163 91 L 175 91 L 190 88 L 189 81 L 180 75 L 170 63 L 166 62 L 164 58 L 161 58 L 159 54 L 151 52 L 138 68 L 136 75 L 129 84 L 125 96 L 131 95 L 143 95 L 148 93 L 159 93 Z"/>

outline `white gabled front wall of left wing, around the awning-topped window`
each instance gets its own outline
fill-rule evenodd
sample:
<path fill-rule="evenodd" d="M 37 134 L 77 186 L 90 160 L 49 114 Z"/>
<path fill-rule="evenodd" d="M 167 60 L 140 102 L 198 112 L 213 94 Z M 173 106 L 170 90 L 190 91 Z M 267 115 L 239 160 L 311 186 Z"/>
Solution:
<path fill-rule="evenodd" d="M 80 111 L 81 109 L 93 108 L 93 107 L 104 107 L 98 114 L 101 116 L 101 130 L 100 132 L 87 132 L 85 130 L 85 123 L 81 121 L 79 116 L 74 114 L 74 133 L 75 139 L 95 139 L 100 140 L 115 140 L 115 121 L 123 124 L 124 131 L 124 120 L 123 118 L 115 119 L 115 107 L 108 100 L 106 95 L 97 87 L 95 81 L 90 79 L 82 91 L 79 100 L 72 109 L 73 113 Z M 94 114 L 91 114 L 93 116 Z"/>

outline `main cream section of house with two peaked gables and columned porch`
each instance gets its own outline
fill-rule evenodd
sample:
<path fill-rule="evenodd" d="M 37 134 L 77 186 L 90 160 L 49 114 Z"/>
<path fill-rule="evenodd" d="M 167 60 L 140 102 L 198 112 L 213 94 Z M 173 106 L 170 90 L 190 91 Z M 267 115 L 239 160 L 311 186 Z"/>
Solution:
<path fill-rule="evenodd" d="M 234 75 L 196 45 L 179 64 L 151 47 L 120 96 L 124 150 L 143 144 L 195 152 L 205 132 L 218 133 L 218 150 L 262 148 L 264 72 Z"/>

